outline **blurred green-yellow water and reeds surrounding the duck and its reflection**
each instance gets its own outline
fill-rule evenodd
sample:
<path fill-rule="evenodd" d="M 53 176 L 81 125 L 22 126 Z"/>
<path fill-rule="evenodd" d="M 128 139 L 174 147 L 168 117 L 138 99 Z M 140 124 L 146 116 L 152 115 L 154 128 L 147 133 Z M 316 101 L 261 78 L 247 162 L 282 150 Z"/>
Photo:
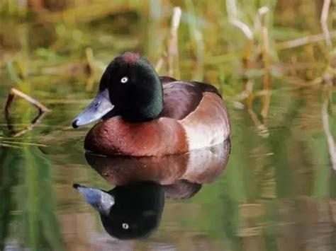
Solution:
<path fill-rule="evenodd" d="M 0 117 L 0 250 L 335 250 L 335 7 L 0 0 L 0 109 L 17 88 L 51 110 L 32 127 L 38 112 L 15 98 L 12 127 Z M 69 125 L 128 50 L 161 75 L 218 87 L 233 134 L 223 175 L 189 200 L 168 200 L 150 238 L 123 243 L 72 189 L 111 185 L 84 159 L 88 128 Z"/>

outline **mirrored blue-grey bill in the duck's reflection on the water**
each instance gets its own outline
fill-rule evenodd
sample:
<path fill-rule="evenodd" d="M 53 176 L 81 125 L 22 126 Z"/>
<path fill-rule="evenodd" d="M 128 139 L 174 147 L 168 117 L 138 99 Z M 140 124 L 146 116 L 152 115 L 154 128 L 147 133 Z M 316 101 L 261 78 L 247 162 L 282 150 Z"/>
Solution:
<path fill-rule="evenodd" d="M 79 184 L 73 185 L 74 189 L 80 192 L 87 203 L 91 204 L 100 214 L 108 215 L 114 205 L 114 198 L 111 194 L 98 188 L 85 187 Z"/>

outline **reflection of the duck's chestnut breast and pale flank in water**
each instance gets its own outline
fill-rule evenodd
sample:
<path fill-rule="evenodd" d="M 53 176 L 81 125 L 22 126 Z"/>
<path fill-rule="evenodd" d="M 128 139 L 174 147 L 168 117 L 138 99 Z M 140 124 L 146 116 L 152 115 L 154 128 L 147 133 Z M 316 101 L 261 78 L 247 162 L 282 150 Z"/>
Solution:
<path fill-rule="evenodd" d="M 113 185 L 152 181 L 172 185 L 178 180 L 204 184 L 212 182 L 223 172 L 230 155 L 230 141 L 172 156 L 129 157 L 96 156 L 85 158 L 104 179 Z"/>

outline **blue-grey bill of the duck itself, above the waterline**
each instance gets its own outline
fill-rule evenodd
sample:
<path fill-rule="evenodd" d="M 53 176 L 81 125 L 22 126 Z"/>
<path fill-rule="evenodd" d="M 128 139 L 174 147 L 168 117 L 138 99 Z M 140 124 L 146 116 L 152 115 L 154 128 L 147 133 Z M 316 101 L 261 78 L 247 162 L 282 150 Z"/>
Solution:
<path fill-rule="evenodd" d="M 104 91 L 98 93 L 90 105 L 74 119 L 72 127 L 82 127 L 95 122 L 113 110 L 113 107 L 114 105 L 111 103 L 108 89 L 106 88 Z"/>

